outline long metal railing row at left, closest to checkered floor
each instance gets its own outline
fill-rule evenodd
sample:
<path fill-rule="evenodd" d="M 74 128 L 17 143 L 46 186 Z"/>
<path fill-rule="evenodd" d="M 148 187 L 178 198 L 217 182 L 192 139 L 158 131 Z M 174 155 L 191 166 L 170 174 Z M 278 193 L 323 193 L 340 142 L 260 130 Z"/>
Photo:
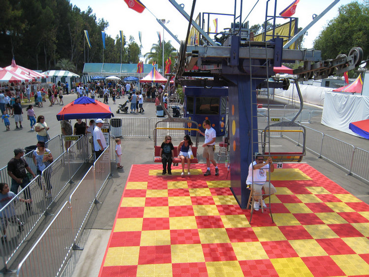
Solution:
<path fill-rule="evenodd" d="M 63 207 L 20 262 L 17 277 L 53 277 L 62 272 L 110 175 L 110 147 L 83 176 Z M 101 181 L 103 182 L 101 183 Z M 46 249 L 46 250 L 45 250 Z"/>

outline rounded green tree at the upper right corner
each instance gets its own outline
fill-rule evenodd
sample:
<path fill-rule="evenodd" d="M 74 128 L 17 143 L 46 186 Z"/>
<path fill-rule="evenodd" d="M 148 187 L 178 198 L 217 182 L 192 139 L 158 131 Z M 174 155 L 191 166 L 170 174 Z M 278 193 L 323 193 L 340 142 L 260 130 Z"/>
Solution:
<path fill-rule="evenodd" d="M 314 48 L 322 51 L 323 59 L 348 54 L 352 47 L 363 48 L 369 54 L 369 4 L 351 2 L 338 8 L 338 15 L 314 41 Z"/>

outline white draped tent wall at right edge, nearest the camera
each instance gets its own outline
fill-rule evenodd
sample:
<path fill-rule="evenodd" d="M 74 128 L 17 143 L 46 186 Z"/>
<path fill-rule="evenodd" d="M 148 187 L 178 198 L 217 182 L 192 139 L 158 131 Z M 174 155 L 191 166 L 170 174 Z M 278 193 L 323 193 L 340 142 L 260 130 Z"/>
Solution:
<path fill-rule="evenodd" d="M 348 126 L 368 119 L 369 97 L 326 92 L 321 123 L 338 131 L 359 137 Z"/>

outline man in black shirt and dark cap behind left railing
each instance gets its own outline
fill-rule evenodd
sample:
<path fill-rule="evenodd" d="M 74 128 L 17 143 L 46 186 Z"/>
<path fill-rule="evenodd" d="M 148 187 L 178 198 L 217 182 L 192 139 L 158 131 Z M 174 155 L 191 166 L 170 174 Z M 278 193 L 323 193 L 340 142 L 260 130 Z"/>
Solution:
<path fill-rule="evenodd" d="M 12 158 L 8 162 L 8 175 L 11 177 L 11 191 L 14 194 L 18 194 L 18 188 L 19 186 L 25 188 L 28 183 L 30 182 L 27 172 L 31 173 L 31 175 L 35 178 L 36 175 L 26 162 L 24 158 L 22 158 L 24 155 L 24 150 L 22 148 L 16 148 L 14 149 L 14 158 Z M 24 191 L 24 199 L 31 199 L 31 191 L 30 188 L 26 189 Z M 26 203 L 27 210 L 31 209 L 31 204 Z"/>

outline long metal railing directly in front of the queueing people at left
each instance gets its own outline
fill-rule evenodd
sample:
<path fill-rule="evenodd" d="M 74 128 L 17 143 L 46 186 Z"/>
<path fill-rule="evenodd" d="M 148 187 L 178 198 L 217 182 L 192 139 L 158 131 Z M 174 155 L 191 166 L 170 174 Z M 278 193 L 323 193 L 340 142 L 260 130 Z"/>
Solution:
<path fill-rule="evenodd" d="M 58 136 L 55 137 L 55 139 L 58 139 Z M 14 236 L 15 233 L 11 231 L 14 228 L 9 229 L 11 239 L 2 244 L 3 268 L 6 268 L 7 263 L 21 248 L 21 244 L 31 231 L 37 227 L 39 221 L 48 214 L 48 209 L 53 206 L 54 201 L 64 191 L 75 173 L 86 163 L 89 151 L 87 142 L 87 136 L 79 138 L 68 148 L 68 151 L 54 158 L 54 161 L 41 173 L 41 175 L 37 175 L 36 178 L 17 194 L 18 197 L 24 199 L 31 198 L 32 205 L 22 205 L 18 203 L 15 207 L 16 213 L 21 215 L 21 221 L 25 222 L 23 226 L 24 231 Z M 55 143 L 55 145 L 57 145 L 57 143 Z M 55 149 L 56 152 L 59 151 L 58 147 L 54 147 L 53 149 Z M 52 150 L 51 153 L 54 156 Z M 28 160 L 29 166 L 33 169 L 34 173 L 36 173 L 36 166 L 32 159 L 32 155 L 33 151 L 27 153 L 25 155 L 26 161 Z M 11 187 L 11 178 L 7 174 L 7 168 L 1 169 L 0 173 L 1 181 L 7 183 L 9 187 Z"/>

